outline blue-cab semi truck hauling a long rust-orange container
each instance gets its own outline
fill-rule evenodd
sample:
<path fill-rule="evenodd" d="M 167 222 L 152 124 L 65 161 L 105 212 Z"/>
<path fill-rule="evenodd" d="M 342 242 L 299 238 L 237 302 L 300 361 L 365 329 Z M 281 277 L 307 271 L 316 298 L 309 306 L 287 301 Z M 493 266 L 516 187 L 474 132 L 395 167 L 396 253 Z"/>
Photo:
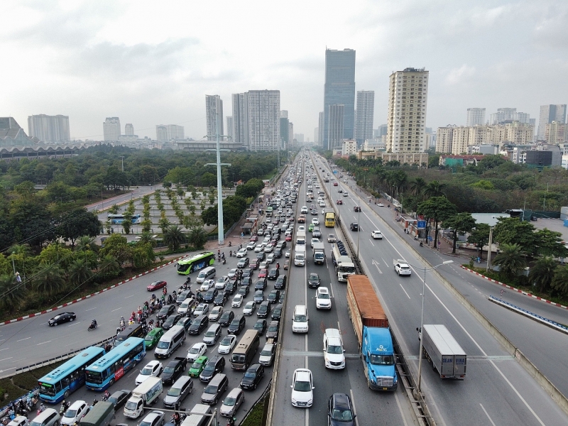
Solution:
<path fill-rule="evenodd" d="M 388 318 L 366 275 L 347 277 L 347 307 L 361 351 L 367 386 L 395 391 L 398 375 Z"/>

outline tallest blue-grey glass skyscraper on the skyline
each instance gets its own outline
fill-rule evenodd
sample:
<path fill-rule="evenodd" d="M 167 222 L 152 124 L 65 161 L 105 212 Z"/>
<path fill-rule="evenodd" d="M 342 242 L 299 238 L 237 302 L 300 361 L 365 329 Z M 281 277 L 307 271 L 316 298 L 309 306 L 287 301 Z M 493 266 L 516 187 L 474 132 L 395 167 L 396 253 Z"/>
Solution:
<path fill-rule="evenodd" d="M 354 138 L 355 125 L 355 50 L 325 50 L 325 84 L 324 84 L 324 148 L 329 145 L 329 107 L 343 105 L 344 123 L 342 138 Z M 337 131 L 337 124 L 335 131 Z M 322 126 L 320 126 L 322 127 Z M 335 134 L 335 133 L 334 133 Z M 341 142 L 336 148 L 341 148 Z"/>

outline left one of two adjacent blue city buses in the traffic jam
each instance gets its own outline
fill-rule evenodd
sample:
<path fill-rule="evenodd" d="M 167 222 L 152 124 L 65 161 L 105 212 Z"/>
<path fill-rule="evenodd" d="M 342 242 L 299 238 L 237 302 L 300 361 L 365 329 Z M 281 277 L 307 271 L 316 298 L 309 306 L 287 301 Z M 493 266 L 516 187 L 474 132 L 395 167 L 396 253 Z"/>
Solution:
<path fill-rule="evenodd" d="M 40 378 L 40 399 L 51 404 L 67 399 L 84 385 L 84 369 L 103 355 L 102 347 L 90 346 Z"/>

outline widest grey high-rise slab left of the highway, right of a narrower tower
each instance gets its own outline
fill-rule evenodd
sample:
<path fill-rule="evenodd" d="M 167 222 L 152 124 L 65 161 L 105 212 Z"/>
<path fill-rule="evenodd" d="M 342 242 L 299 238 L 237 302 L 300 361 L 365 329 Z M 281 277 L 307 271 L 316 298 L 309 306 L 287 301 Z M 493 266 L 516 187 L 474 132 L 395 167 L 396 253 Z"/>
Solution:
<path fill-rule="evenodd" d="M 280 143 L 280 90 L 249 90 L 249 148 L 275 151 Z"/>

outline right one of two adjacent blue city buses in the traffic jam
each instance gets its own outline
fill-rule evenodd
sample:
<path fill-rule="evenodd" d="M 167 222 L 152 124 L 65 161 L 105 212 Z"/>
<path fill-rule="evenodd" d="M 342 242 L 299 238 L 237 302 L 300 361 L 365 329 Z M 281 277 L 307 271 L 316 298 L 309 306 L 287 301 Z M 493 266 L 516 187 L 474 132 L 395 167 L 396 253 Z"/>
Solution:
<path fill-rule="evenodd" d="M 129 337 L 85 370 L 87 389 L 104 391 L 146 356 L 146 344 L 140 337 Z"/>

